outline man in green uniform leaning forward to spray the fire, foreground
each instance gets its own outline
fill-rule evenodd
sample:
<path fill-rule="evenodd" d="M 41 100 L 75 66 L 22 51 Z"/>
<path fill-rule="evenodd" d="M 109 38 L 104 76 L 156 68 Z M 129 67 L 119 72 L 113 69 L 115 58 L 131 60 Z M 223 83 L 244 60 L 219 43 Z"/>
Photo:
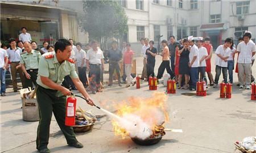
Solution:
<path fill-rule="evenodd" d="M 64 76 L 71 76 L 77 90 L 89 100 L 89 105 L 94 105 L 94 103 L 79 80 L 75 64 L 72 60 L 69 60 L 71 50 L 71 43 L 68 40 L 60 39 L 55 43 L 55 52 L 43 54 L 39 62 L 38 79 L 36 80 L 38 83 L 36 99 L 39 104 L 40 121 L 38 125 L 38 136 L 36 138 L 36 148 L 40 152 L 49 152 L 47 145 L 52 112 L 67 140 L 68 146 L 76 148 L 83 147 L 77 141 L 73 128 L 65 126 L 66 96 L 71 95 L 71 91 L 60 85 L 64 80 Z"/>

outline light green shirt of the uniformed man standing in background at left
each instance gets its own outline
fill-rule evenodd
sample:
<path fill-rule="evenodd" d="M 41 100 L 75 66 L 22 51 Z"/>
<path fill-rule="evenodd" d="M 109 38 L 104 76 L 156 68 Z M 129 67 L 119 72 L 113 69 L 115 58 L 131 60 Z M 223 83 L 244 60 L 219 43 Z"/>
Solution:
<path fill-rule="evenodd" d="M 32 50 L 31 53 L 24 52 L 20 55 L 20 63 L 24 64 L 26 70 L 38 69 L 41 53 Z"/>

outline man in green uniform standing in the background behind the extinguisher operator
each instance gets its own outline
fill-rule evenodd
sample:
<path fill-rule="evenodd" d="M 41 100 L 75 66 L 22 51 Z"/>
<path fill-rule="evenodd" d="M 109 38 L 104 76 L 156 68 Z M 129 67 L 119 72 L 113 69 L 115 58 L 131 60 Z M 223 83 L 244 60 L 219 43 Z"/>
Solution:
<path fill-rule="evenodd" d="M 22 71 L 25 74 L 25 87 L 36 86 L 36 78 L 38 78 L 38 65 L 41 58 L 41 53 L 36 50 L 32 50 L 30 42 L 24 42 L 24 49 L 27 52 L 20 54 L 20 64 L 22 66 Z"/>

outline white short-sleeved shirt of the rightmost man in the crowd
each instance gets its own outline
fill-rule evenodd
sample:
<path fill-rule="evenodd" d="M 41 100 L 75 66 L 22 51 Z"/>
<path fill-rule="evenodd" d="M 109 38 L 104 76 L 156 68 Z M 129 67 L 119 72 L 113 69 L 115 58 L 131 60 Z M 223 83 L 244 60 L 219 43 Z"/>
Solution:
<path fill-rule="evenodd" d="M 237 46 L 237 52 L 240 52 L 238 63 L 251 63 L 252 53 L 256 52 L 254 42 L 251 40 L 247 44 L 244 41 L 240 42 Z"/>

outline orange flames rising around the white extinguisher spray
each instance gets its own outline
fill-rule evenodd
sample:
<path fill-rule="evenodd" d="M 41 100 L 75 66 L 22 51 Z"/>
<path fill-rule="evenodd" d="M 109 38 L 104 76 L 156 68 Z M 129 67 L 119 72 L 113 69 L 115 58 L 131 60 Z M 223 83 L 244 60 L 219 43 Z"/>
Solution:
<path fill-rule="evenodd" d="M 162 125 L 164 122 L 169 121 L 167 113 L 168 97 L 162 92 L 154 92 L 149 98 L 130 97 L 127 101 L 116 105 L 117 115 L 123 117 L 129 114 L 135 114 L 141 117 L 142 121 L 149 123 L 151 130 L 156 125 Z M 159 122 L 162 120 L 162 122 Z M 126 129 L 123 129 L 119 122 L 112 120 L 113 130 L 115 135 L 120 135 L 122 139 L 129 135 Z"/>

